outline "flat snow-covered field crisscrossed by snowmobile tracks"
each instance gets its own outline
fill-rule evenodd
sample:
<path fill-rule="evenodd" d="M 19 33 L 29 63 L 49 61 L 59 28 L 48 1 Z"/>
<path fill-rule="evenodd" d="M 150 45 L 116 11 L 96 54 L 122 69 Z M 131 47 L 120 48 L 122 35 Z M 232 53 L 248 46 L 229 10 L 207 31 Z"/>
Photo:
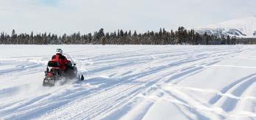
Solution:
<path fill-rule="evenodd" d="M 56 48 L 86 80 L 42 86 Z M 0 45 L 0 119 L 256 119 L 256 46 Z"/>

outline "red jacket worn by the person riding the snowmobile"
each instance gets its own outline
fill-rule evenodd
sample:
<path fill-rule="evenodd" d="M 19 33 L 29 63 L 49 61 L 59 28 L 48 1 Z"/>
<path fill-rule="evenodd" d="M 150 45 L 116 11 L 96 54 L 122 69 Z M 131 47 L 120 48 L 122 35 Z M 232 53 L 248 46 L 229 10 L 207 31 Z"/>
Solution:
<path fill-rule="evenodd" d="M 65 58 L 65 56 L 57 53 L 56 55 L 51 57 L 51 61 L 57 61 L 60 64 L 60 70 L 65 70 L 65 65 L 68 64 L 70 61 Z"/>

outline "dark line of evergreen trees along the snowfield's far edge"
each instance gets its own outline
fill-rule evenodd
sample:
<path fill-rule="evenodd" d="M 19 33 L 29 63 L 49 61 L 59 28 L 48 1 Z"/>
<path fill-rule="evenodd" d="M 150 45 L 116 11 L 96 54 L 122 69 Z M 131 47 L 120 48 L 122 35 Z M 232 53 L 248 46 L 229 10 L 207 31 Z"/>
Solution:
<path fill-rule="evenodd" d="M 12 34 L 1 32 L 0 44 L 32 44 L 32 45 L 61 45 L 61 44 L 102 44 L 102 45 L 235 45 L 235 37 L 215 36 L 209 34 L 199 34 L 193 29 L 187 30 L 179 27 L 176 31 L 147 31 L 137 33 L 137 31 L 123 31 L 122 29 L 113 32 L 104 32 L 99 29 L 93 34 Z M 241 42 L 241 41 L 240 41 Z"/>

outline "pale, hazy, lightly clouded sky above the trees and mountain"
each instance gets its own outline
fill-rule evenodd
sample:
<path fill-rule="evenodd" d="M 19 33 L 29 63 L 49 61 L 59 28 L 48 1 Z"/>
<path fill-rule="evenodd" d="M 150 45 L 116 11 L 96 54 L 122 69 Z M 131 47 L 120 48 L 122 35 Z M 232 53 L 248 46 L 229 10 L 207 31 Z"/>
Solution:
<path fill-rule="evenodd" d="M 71 34 L 100 28 L 193 28 L 255 15 L 255 4 L 255 0 L 6 0 L 0 4 L 0 31 Z"/>

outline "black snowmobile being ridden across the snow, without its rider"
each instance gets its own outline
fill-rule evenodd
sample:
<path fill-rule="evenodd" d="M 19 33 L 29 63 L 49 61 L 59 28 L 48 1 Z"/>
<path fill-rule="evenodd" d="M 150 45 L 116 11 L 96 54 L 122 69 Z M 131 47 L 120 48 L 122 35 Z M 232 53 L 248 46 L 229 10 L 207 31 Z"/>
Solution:
<path fill-rule="evenodd" d="M 59 80 L 84 80 L 83 75 L 77 75 L 76 64 L 70 63 L 67 70 L 60 70 L 60 64 L 57 61 L 49 61 L 43 79 L 43 86 L 54 86 Z"/>

